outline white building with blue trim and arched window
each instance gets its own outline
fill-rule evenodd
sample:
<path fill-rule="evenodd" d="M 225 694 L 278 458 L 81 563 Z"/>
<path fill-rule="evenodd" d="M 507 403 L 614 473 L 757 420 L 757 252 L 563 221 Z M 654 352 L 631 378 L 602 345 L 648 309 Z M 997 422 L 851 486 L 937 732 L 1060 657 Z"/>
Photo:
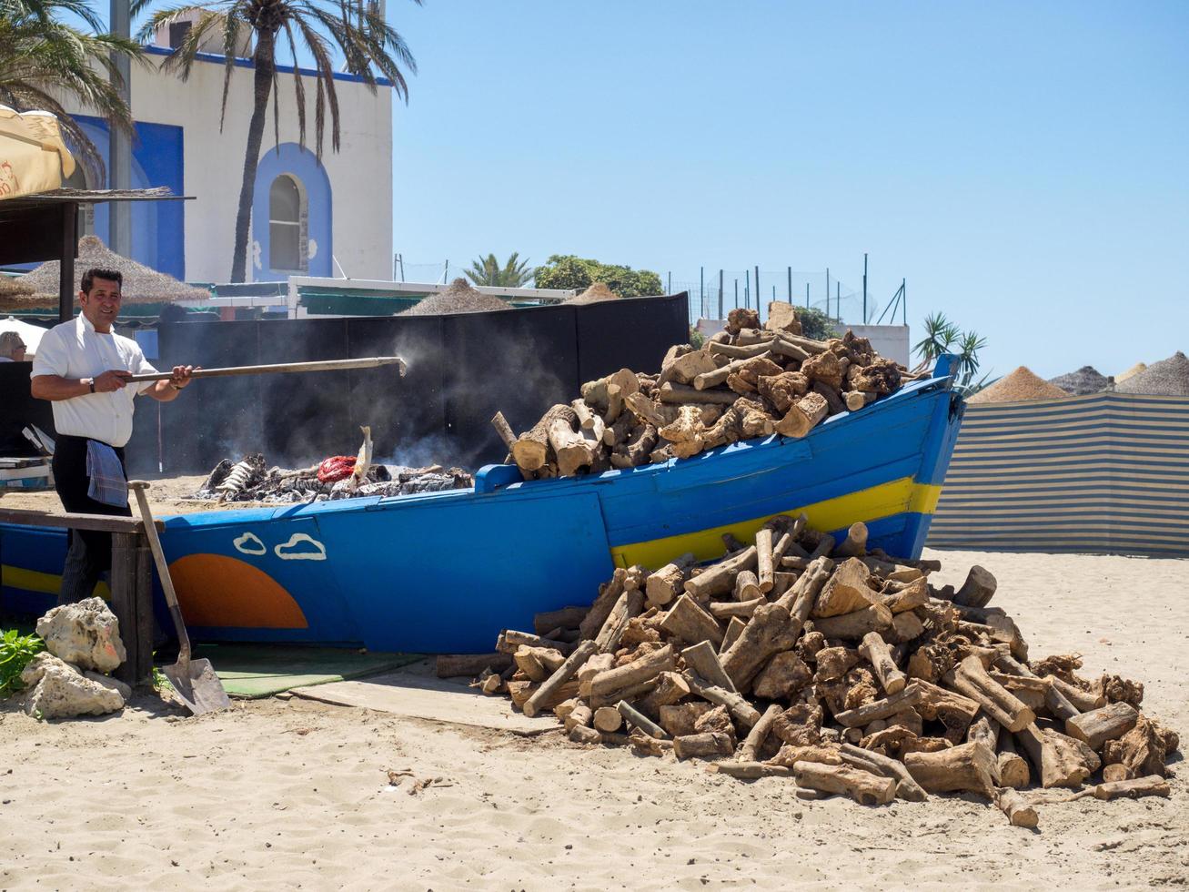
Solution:
<path fill-rule="evenodd" d="M 169 34 L 150 46 L 146 70 L 132 65 L 132 186 L 168 186 L 195 201 L 143 202 L 132 211 L 134 259 L 189 282 L 227 282 L 235 211 L 252 114 L 250 58 L 237 59 L 220 130 L 224 58 L 200 56 L 188 81 L 158 70 Z M 247 50 L 245 49 L 245 52 Z M 278 65 L 279 145 L 270 99 L 252 205 L 249 278 L 284 281 L 290 275 L 385 279 L 392 271 L 392 90 L 372 93 L 357 75 L 336 74 L 340 150 L 331 151 L 329 112 L 321 159 L 314 155 L 313 73 L 301 69 L 307 100 L 307 147 L 298 145 L 294 69 Z M 276 96 L 275 96 L 276 98 Z M 273 99 L 275 99 L 273 98 Z M 76 112 L 77 108 L 69 108 Z M 105 120 L 76 114 L 107 153 Z M 70 186 L 102 188 L 76 172 Z M 107 206 L 86 222 L 107 240 Z M 335 264 L 335 260 L 338 262 Z"/>

